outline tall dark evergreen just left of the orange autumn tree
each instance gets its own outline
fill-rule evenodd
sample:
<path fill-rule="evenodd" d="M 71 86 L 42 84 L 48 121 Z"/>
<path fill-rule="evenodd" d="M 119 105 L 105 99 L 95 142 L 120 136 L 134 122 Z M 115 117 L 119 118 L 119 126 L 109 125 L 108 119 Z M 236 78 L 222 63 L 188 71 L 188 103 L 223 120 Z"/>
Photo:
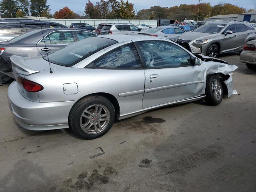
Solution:
<path fill-rule="evenodd" d="M 49 17 L 51 10 L 47 5 L 47 0 L 30 0 L 31 16 Z"/>

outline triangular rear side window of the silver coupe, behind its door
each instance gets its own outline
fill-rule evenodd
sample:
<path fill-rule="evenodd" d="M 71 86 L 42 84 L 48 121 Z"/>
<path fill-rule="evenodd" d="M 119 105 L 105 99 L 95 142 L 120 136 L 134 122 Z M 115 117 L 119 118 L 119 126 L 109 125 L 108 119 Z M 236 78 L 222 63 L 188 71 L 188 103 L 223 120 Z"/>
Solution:
<path fill-rule="evenodd" d="M 133 44 L 118 47 L 88 65 L 93 68 L 140 68 L 140 59 Z"/>

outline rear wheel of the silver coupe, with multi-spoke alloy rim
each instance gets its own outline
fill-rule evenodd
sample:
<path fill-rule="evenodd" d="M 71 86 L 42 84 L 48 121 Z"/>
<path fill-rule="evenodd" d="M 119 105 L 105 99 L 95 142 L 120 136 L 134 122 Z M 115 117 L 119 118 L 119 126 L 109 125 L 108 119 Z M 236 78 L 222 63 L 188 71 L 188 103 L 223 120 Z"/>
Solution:
<path fill-rule="evenodd" d="M 68 117 L 69 127 L 83 139 L 94 139 L 106 134 L 114 120 L 114 107 L 102 96 L 89 96 L 79 100 L 71 108 Z"/>

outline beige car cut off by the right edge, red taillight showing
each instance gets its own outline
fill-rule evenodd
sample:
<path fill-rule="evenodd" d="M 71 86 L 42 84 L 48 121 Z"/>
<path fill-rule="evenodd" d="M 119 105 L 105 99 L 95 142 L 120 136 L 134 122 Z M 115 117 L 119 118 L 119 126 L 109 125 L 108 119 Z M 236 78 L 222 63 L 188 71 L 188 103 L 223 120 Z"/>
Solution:
<path fill-rule="evenodd" d="M 248 41 L 240 54 L 240 62 L 246 63 L 249 69 L 256 69 L 256 40 Z"/>

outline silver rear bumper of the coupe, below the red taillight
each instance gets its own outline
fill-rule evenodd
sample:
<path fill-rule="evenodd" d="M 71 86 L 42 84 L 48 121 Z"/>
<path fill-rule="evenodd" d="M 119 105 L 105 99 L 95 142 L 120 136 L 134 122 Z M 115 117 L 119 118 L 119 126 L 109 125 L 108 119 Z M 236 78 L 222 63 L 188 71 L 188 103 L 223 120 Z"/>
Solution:
<path fill-rule="evenodd" d="M 16 82 L 8 88 L 8 101 L 16 122 L 28 130 L 68 128 L 68 114 L 76 102 L 32 102 L 19 93 Z"/>

